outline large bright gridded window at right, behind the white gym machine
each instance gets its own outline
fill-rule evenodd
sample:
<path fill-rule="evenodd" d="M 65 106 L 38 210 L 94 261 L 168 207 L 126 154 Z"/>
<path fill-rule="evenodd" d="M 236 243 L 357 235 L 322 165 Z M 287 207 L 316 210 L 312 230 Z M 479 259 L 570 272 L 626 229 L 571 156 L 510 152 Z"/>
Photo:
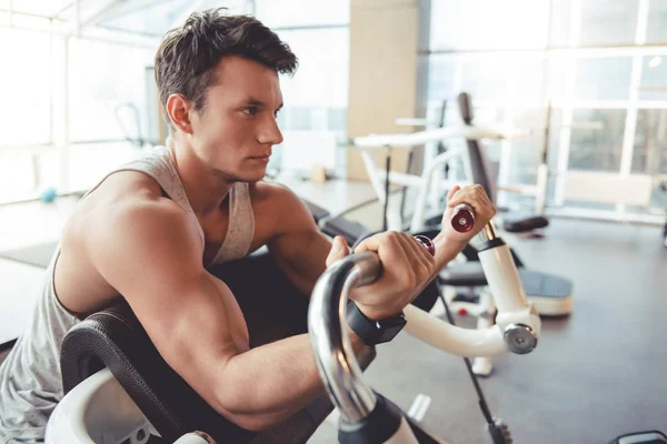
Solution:
<path fill-rule="evenodd" d="M 665 0 L 431 0 L 430 20 L 429 120 L 444 100 L 458 113 L 456 94 L 467 91 L 476 110 L 497 110 L 495 122 L 530 130 L 488 144 L 500 184 L 534 184 L 546 148 L 551 205 L 603 208 L 565 201 L 568 170 L 650 174 L 649 211 L 664 205 L 657 190 L 667 175 Z"/>

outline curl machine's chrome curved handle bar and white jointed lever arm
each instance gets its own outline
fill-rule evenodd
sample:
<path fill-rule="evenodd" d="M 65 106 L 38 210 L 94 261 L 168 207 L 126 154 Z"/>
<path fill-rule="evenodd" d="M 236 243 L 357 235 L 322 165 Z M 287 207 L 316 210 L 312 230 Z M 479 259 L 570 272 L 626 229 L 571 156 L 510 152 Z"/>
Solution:
<path fill-rule="evenodd" d="M 455 215 L 452 223 L 456 225 L 458 221 Z M 409 305 L 405 309 L 406 331 L 444 352 L 461 356 L 507 351 L 530 353 L 537 345 L 540 320 L 526 300 L 511 253 L 496 235 L 492 223 L 478 234 L 476 248 L 498 306 L 497 324 L 485 330 L 461 329 Z M 352 287 L 372 283 L 380 274 L 381 264 L 375 253 L 354 254 L 331 264 L 320 276 L 311 296 L 308 312 L 310 340 L 325 387 L 340 411 L 339 442 L 446 444 L 374 392 L 361 379 L 347 330 L 348 293 Z M 507 426 L 490 414 L 487 428 L 494 444 L 511 443 Z"/>

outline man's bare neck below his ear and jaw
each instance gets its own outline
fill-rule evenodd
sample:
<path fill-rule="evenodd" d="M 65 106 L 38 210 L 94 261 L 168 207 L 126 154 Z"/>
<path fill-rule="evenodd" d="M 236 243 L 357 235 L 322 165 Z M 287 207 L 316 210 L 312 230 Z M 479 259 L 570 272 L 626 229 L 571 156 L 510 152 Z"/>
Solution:
<path fill-rule="evenodd" d="M 213 174 L 211 168 L 182 143 L 169 138 L 167 150 L 192 210 L 196 214 L 206 215 L 221 209 L 233 182 Z"/>

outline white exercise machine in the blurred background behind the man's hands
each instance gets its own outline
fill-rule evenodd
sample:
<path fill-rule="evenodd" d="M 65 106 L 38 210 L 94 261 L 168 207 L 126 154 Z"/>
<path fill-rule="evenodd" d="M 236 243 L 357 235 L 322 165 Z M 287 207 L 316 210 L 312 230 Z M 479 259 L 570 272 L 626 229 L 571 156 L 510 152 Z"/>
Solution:
<path fill-rule="evenodd" d="M 395 183 L 402 186 L 417 188 L 415 211 L 407 228 L 408 231 L 412 234 L 431 236 L 439 231 L 438 226 L 428 225 L 429 214 L 427 213 L 427 208 L 429 202 L 431 208 L 439 208 L 437 203 L 446 190 L 460 183 L 442 179 L 440 174 L 444 167 L 452 160 L 462 160 L 465 168 L 468 170 L 466 176 L 470 178 L 470 182 L 468 183 L 479 183 L 485 188 L 490 198 L 495 196 L 495 182 L 490 178 L 488 160 L 478 141 L 482 139 L 512 139 L 524 135 L 525 131 L 507 127 L 475 125 L 472 123 L 472 111 L 468 94 L 462 93 L 459 95 L 459 108 L 461 109 L 462 121 L 466 123 L 462 127 L 439 128 L 409 134 L 369 135 L 352 140 L 354 144 L 361 152 L 378 200 L 385 204 L 385 209 L 388 212 L 386 219 L 390 229 L 402 229 L 400 225 L 400 214 L 396 211 L 387 210 L 389 183 Z M 378 149 L 390 150 L 395 147 L 418 147 L 429 142 L 440 142 L 456 138 L 462 138 L 466 141 L 465 147 L 461 149 L 449 149 L 439 153 L 426 163 L 421 175 L 394 172 L 389 168 L 381 169 L 376 163 L 371 153 L 372 150 Z M 441 210 L 438 212 L 441 213 Z M 534 225 L 530 221 L 531 219 L 529 218 L 524 223 L 526 230 L 540 226 L 539 223 L 541 222 L 538 225 Z M 322 226 L 325 233 L 335 235 L 340 233 L 342 223 L 341 218 L 335 218 L 326 220 L 320 226 Z M 348 234 L 348 226 L 346 226 L 345 231 Z M 355 234 L 358 236 L 361 233 L 364 233 L 364 230 L 359 229 Z M 354 235 L 350 235 L 350 238 L 354 238 Z M 561 276 L 529 270 L 524 266 L 522 261 L 514 251 L 510 250 L 510 252 L 516 265 L 519 268 L 519 278 L 526 290 L 526 294 L 535 305 L 537 312 L 545 316 L 568 315 L 573 310 L 571 282 Z M 451 305 L 452 311 L 476 316 L 477 327 L 486 329 L 494 323 L 496 314 L 495 299 L 487 290 L 486 274 L 478 261 L 475 249 L 467 248 L 464 251 L 464 255 L 467 262 L 447 266 L 440 273 L 439 282 L 444 286 L 446 300 Z M 477 357 L 472 369 L 477 375 L 488 376 L 492 372 L 492 364 L 487 356 Z"/>

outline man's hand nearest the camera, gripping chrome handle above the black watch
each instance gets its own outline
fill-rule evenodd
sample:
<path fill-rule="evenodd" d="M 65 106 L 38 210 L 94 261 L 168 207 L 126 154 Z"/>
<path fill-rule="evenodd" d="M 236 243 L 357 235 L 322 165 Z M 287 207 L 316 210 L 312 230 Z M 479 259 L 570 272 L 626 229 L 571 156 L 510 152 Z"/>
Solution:
<path fill-rule="evenodd" d="M 364 240 L 355 253 L 371 251 L 378 254 L 382 275 L 370 285 L 350 293 L 359 310 L 369 319 L 394 316 L 417 295 L 421 284 L 432 275 L 435 260 L 411 235 L 388 231 Z M 327 266 L 349 252 L 345 240 L 337 236 L 327 258 Z"/>

